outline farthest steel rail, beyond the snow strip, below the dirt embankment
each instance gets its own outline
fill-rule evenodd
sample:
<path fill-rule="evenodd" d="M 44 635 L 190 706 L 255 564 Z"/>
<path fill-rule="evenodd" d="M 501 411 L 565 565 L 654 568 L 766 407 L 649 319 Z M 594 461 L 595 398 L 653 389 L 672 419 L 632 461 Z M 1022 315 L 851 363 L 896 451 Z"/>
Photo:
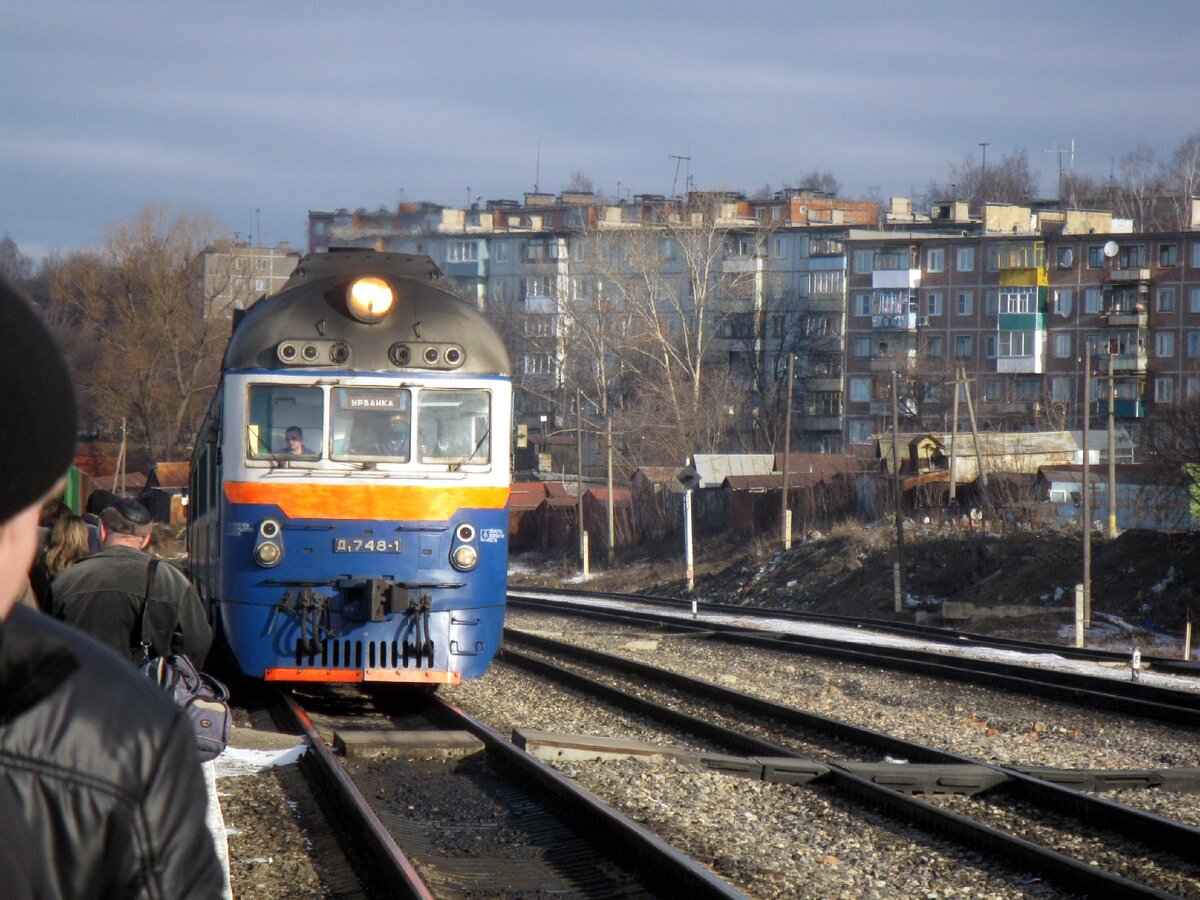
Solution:
<path fill-rule="evenodd" d="M 528 588 L 526 590 L 510 590 L 510 595 L 521 596 L 523 594 L 551 594 L 562 596 L 588 596 L 604 600 L 623 600 L 629 602 L 646 604 L 647 606 L 662 606 L 670 608 L 690 610 L 691 600 L 680 600 L 671 596 L 655 596 L 652 594 L 629 594 L 613 590 L 575 590 L 568 588 Z M 799 610 L 787 610 L 770 606 L 738 606 L 734 604 L 721 604 L 702 601 L 706 612 L 720 612 L 731 616 L 743 616 L 749 618 L 774 618 L 791 619 L 794 622 L 811 622 L 824 625 L 839 625 L 842 628 L 862 629 L 868 631 L 882 631 L 900 636 L 920 637 L 940 643 L 948 643 L 961 647 L 971 643 L 979 647 L 995 647 L 997 649 L 1025 650 L 1027 653 L 1055 653 L 1067 659 L 1088 660 L 1093 662 L 1128 664 L 1129 654 L 1118 650 L 1102 650 L 1087 647 L 1069 647 L 1066 644 L 1044 643 L 1040 641 L 1024 641 L 1015 637 L 1002 637 L 998 635 L 980 635 L 962 629 L 941 628 L 937 625 L 920 625 L 912 622 L 894 622 L 889 619 L 860 618 L 856 616 L 839 616 L 835 613 L 800 612 Z M 1166 656 L 1153 656 L 1144 654 L 1141 661 L 1145 666 L 1186 676 L 1200 676 L 1200 661 L 1169 659 Z"/>

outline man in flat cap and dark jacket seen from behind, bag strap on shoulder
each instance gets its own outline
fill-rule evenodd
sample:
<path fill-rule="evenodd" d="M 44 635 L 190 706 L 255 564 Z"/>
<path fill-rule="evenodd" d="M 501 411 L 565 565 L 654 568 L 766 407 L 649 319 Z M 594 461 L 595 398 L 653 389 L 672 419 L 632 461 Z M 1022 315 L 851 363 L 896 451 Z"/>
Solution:
<path fill-rule="evenodd" d="M 100 514 L 104 548 L 65 569 L 50 582 L 55 618 L 112 647 L 137 665 L 142 641 L 154 656 L 182 653 L 197 668 L 212 644 L 212 629 L 196 588 L 179 569 L 160 560 L 151 571 L 150 512 L 136 500 L 118 499 Z M 145 634 L 142 631 L 145 607 Z"/>

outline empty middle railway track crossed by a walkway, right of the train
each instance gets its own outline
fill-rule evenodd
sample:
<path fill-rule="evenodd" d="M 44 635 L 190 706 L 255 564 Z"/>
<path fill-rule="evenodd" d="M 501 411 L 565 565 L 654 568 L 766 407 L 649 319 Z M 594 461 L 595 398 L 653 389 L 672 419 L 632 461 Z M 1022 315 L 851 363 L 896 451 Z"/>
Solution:
<path fill-rule="evenodd" d="M 533 647 L 538 655 L 518 650 L 515 644 Z M 546 654 L 572 662 L 566 667 Z M 1103 896 L 1170 896 L 1172 894 L 1162 884 L 1174 883 L 1171 870 L 1186 870 L 1189 871 L 1188 883 L 1200 893 L 1200 870 L 1190 862 L 1200 829 L 1074 790 L 1111 787 L 1122 778 L 1128 779 L 1128 784 L 1136 784 L 1135 779 L 1145 773 L 1110 772 L 1098 776 L 1096 773 L 989 766 L 642 662 L 511 630 L 505 634 L 504 659 L 607 703 L 714 742 L 731 752 L 746 754 L 751 762 L 757 760 L 760 772 L 770 770 L 781 780 L 805 780 L 805 773 L 810 778 L 823 778 L 838 791 L 888 816 L 982 848 L 988 854 L 1002 856 L 1014 866 L 1038 871 L 1064 888 Z M 581 665 L 605 674 L 580 671 Z M 636 691 L 629 689 L 635 682 L 638 684 Z M 690 696 L 691 702 L 682 700 L 683 695 Z M 750 719 L 760 724 L 756 733 L 734 727 Z M 770 739 L 763 737 L 763 732 Z M 883 755 L 900 756 L 919 764 L 864 764 L 806 757 L 793 749 L 800 732 L 820 733 L 842 746 L 857 744 L 862 756 L 874 760 Z M 787 758 L 793 761 L 791 766 L 781 762 Z M 712 764 L 718 768 L 736 766 L 721 758 Z M 1196 775 L 1194 770 L 1177 773 L 1181 781 L 1175 787 L 1195 790 L 1195 784 L 1182 782 L 1196 782 L 1200 780 Z M 1056 784 L 1056 779 L 1061 784 Z M 1112 781 L 1106 782 L 1106 779 Z M 1067 784 L 1072 787 L 1064 786 Z M 926 803 L 914 796 L 954 791 L 991 791 L 991 796 L 1000 793 L 1012 799 L 988 802 L 980 812 L 966 808 L 961 798 L 956 804 Z M 948 809 L 950 805 L 960 811 Z M 996 806 L 1004 808 L 1003 812 L 996 815 Z M 988 818 L 1007 818 L 1008 827 L 990 826 L 984 821 Z M 1040 824 L 1042 818 L 1052 820 L 1058 829 L 1092 835 L 1098 852 L 1112 845 L 1128 847 L 1122 852 L 1129 863 L 1117 860 L 1116 864 L 1127 872 L 1139 872 L 1138 877 L 1097 865 L 1090 850 L 1088 858 L 1080 859 L 1049 846 L 1055 840 L 1055 829 Z M 1038 836 L 1031 840 L 1015 832 Z M 1164 869 L 1168 870 L 1165 875 Z M 1144 870 L 1145 876 L 1141 875 Z"/>

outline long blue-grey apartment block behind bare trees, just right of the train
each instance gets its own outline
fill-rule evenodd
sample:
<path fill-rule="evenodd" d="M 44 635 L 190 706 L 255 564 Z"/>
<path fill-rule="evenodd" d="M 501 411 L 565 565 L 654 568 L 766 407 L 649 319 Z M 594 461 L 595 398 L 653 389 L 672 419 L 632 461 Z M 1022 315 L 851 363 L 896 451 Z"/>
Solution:
<path fill-rule="evenodd" d="M 845 238 L 877 217 L 875 203 L 810 191 L 755 200 L 638 194 L 618 204 L 563 192 L 468 209 L 408 204 L 395 212 L 310 212 L 308 233 L 314 251 L 371 246 L 431 256 L 456 290 L 504 330 L 520 388 L 518 421 L 552 427 L 556 419 L 565 425 L 564 410 L 574 403 L 564 385 L 583 323 L 572 317 L 584 308 L 599 314 L 601 295 L 613 294 L 614 282 L 650 257 L 654 290 L 694 299 L 688 281 L 696 248 L 683 246 L 690 240 L 684 233 L 703 232 L 707 221 L 712 230 L 703 236 L 720 241 L 712 272 L 719 326 L 709 349 L 739 386 L 728 400 L 737 428 L 754 439 L 766 395 L 781 394 L 794 353 L 800 437 L 793 446 L 833 451 L 844 427 Z"/>

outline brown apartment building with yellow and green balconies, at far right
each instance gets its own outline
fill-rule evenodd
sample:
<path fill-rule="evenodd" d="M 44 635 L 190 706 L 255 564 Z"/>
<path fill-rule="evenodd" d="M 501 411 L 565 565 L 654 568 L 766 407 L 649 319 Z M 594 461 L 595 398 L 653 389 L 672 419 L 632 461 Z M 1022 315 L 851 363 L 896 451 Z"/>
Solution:
<path fill-rule="evenodd" d="M 960 427 L 1078 430 L 1106 415 L 1111 368 L 1136 440 L 1200 395 L 1198 230 L 990 205 L 977 230 L 853 232 L 848 251 L 848 448 L 890 427 L 893 373 L 906 430 L 948 431 L 955 392 Z"/>

